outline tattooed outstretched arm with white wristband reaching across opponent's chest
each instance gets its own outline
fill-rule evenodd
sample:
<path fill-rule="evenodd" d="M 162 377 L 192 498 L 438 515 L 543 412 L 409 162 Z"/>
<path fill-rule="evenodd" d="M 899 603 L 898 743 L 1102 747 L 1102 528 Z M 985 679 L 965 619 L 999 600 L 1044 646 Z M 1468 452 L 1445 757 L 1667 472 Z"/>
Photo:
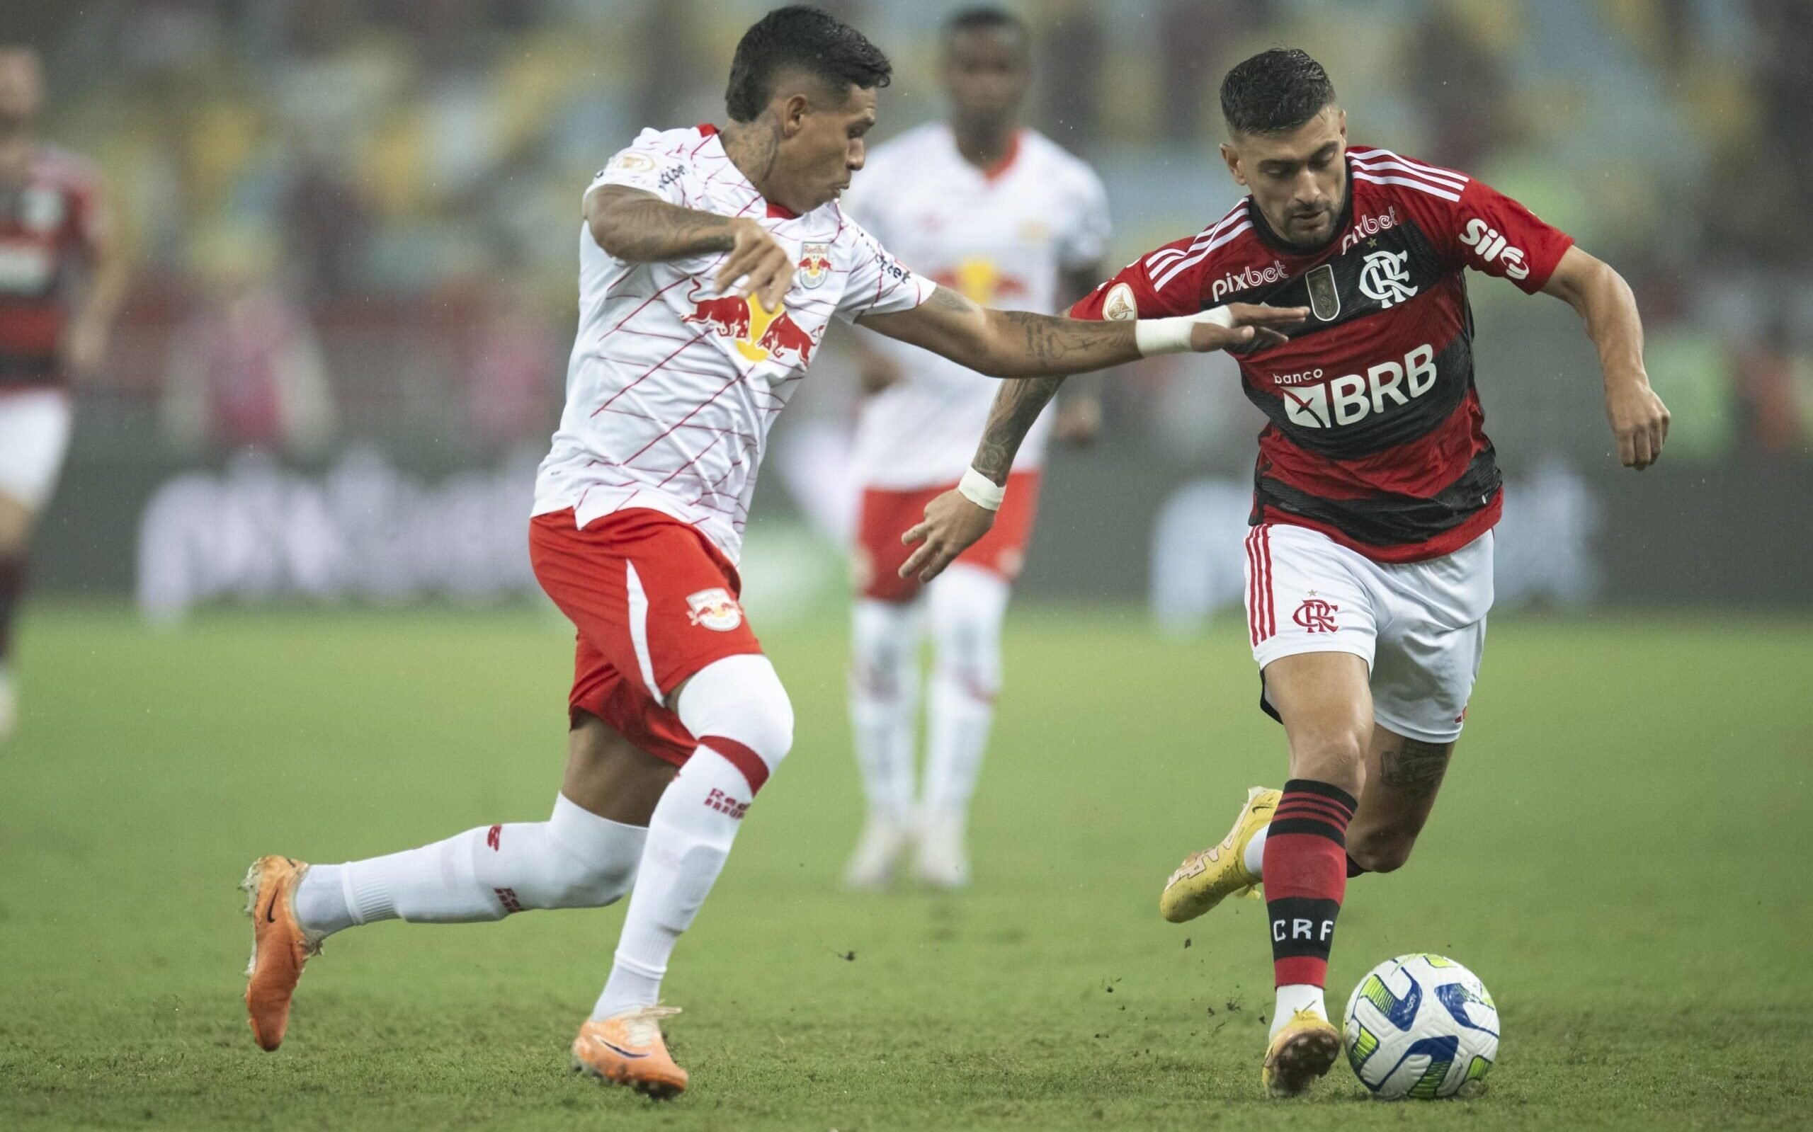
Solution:
<path fill-rule="evenodd" d="M 1061 377 L 1151 353 L 1207 353 L 1284 342 L 1304 308 L 1233 302 L 1177 319 L 1102 322 L 992 310 L 941 286 L 912 310 L 863 315 L 863 326 L 930 350 L 988 377 Z"/>

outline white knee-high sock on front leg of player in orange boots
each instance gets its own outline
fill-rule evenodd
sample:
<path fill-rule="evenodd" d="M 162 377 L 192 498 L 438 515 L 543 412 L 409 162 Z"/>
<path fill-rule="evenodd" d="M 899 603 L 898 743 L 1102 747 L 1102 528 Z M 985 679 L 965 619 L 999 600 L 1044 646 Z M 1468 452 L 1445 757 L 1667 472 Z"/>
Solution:
<path fill-rule="evenodd" d="M 611 976 L 591 1012 L 598 1020 L 660 1002 L 680 933 L 693 926 L 723 871 L 749 802 L 792 746 L 792 705 L 761 654 L 700 668 L 680 694 L 676 714 L 700 746 L 649 819 Z"/>

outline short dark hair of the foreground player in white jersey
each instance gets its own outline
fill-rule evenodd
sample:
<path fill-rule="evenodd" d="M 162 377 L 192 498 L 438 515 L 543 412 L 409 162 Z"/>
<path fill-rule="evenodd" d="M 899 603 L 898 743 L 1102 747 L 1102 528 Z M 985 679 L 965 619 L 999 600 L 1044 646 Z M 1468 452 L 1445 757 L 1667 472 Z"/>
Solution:
<path fill-rule="evenodd" d="M 756 20 L 736 43 L 723 107 L 734 121 L 754 121 L 774 96 L 781 71 L 803 71 L 839 94 L 850 83 L 885 87 L 894 63 L 881 49 L 821 7 L 789 4 Z"/>

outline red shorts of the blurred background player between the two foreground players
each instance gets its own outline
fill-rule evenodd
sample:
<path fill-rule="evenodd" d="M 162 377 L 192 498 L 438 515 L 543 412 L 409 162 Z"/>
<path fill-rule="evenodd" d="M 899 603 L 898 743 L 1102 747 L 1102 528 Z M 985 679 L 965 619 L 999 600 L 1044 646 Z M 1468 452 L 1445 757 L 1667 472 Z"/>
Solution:
<path fill-rule="evenodd" d="M 863 491 L 863 511 L 856 522 L 856 589 L 876 601 L 912 601 L 919 596 L 917 578 L 901 578 L 901 563 L 917 547 L 901 543 L 901 534 L 925 518 L 925 505 L 955 484 L 919 491 Z M 1032 542 L 1032 520 L 1039 511 L 1039 473 L 1008 473 L 1008 498 L 995 513 L 995 525 L 974 547 L 957 556 L 965 565 L 1019 578 Z"/>

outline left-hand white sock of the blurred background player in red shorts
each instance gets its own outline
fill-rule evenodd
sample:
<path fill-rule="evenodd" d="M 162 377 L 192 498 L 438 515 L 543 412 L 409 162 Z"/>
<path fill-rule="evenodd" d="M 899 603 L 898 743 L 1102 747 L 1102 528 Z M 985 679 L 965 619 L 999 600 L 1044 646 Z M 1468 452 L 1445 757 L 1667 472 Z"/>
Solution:
<path fill-rule="evenodd" d="M 905 826 L 919 714 L 917 603 L 863 598 L 850 614 L 850 730 L 870 820 Z"/>

